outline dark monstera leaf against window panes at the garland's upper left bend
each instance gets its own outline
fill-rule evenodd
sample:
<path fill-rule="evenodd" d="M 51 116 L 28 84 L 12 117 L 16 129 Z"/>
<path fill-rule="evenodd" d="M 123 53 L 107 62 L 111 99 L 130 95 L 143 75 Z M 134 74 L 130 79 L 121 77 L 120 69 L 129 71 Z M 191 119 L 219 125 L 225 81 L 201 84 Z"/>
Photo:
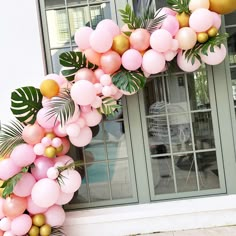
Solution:
<path fill-rule="evenodd" d="M 68 81 L 73 81 L 76 72 L 81 68 L 89 68 L 95 70 L 97 65 L 92 64 L 87 60 L 82 52 L 63 52 L 59 56 L 60 64 L 65 67 L 61 73 L 66 77 Z"/>

